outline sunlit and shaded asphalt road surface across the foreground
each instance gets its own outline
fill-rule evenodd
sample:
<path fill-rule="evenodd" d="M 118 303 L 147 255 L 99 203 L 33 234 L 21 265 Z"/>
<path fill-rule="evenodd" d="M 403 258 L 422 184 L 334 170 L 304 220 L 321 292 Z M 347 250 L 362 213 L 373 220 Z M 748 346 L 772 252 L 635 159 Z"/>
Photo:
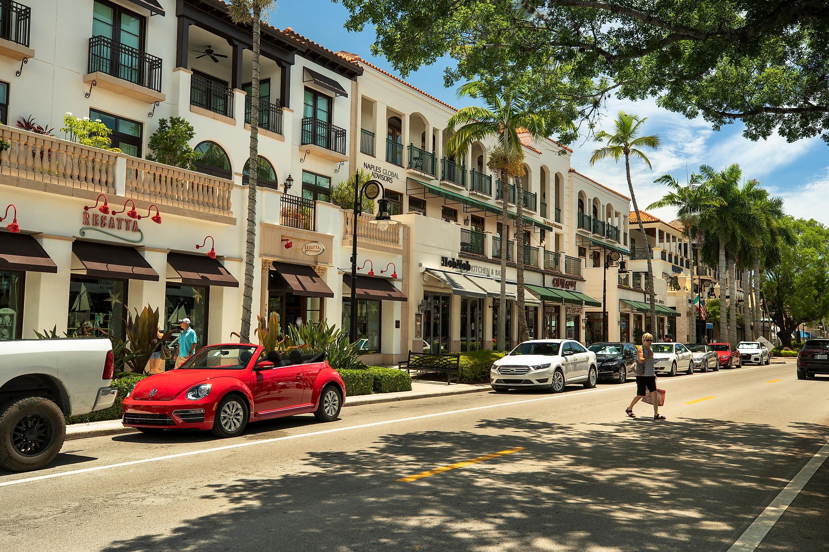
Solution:
<path fill-rule="evenodd" d="M 54 468 L 0 473 L 0 549 L 730 550 L 827 444 L 829 378 L 789 363 L 659 386 L 662 422 L 624 415 L 628 383 L 70 441 Z M 829 550 L 827 486 L 829 462 L 756 550 Z"/>

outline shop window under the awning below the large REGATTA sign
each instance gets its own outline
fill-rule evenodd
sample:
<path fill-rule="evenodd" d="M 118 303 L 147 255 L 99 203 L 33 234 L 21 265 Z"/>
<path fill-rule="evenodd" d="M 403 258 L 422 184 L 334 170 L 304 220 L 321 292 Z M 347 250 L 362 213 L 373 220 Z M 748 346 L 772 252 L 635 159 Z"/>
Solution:
<path fill-rule="evenodd" d="M 124 338 L 127 281 L 72 276 L 69 283 L 70 337 L 100 337 L 102 332 Z"/>

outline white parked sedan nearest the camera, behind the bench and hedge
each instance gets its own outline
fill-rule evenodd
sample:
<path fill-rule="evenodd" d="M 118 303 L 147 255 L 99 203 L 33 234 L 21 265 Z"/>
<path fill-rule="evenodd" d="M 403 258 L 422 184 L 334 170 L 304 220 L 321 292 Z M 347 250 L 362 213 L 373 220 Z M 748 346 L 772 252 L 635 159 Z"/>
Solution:
<path fill-rule="evenodd" d="M 571 339 L 525 341 L 495 361 L 490 372 L 495 391 L 535 388 L 560 393 L 570 383 L 595 387 L 598 378 L 596 353 Z"/>

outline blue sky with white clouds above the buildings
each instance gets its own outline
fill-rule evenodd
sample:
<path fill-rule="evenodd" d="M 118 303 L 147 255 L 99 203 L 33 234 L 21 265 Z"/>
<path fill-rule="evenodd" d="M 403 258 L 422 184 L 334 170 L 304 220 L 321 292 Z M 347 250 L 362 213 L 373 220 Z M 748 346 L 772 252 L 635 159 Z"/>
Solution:
<path fill-rule="evenodd" d="M 279 28 L 290 26 L 329 50 L 351 51 L 397 74 L 385 58 L 371 55 L 374 30 L 348 32 L 343 27 L 347 17 L 347 10 L 331 0 L 282 0 L 270 14 L 269 23 Z M 469 100 L 459 100 L 454 89 L 444 88 L 443 73 L 449 63 L 449 60 L 439 60 L 410 74 L 406 80 L 436 98 L 463 107 Z M 686 119 L 678 113 L 658 108 L 652 100 L 633 103 L 614 99 L 608 102 L 604 121 L 609 122 L 619 109 L 647 116 L 646 132 L 662 138 L 659 150 L 647 153 L 653 170 L 641 163 L 633 166 L 633 185 L 640 209 L 665 192 L 662 186 L 653 184 L 659 175 L 671 173 L 677 180 L 684 181 L 686 170 L 693 172 L 701 164 L 723 169 L 730 163 L 739 163 L 745 178 L 757 178 L 772 194 L 783 197 L 788 214 L 829 224 L 829 146 L 820 138 L 788 144 L 773 135 L 765 141 L 751 142 L 742 137 L 739 124 L 714 132 L 701 118 Z M 596 142 L 584 140 L 574 144 L 571 166 L 627 195 L 623 166 L 616 166 L 613 161 L 600 161 L 596 166 L 590 166 L 590 154 L 597 146 Z M 657 209 L 653 214 L 666 220 L 674 215 L 671 209 Z"/>

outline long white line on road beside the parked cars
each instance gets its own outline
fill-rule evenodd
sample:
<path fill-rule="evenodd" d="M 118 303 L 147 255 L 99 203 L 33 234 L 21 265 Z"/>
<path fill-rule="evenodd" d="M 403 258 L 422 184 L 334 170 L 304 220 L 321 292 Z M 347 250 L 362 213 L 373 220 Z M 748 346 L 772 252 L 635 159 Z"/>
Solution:
<path fill-rule="evenodd" d="M 741 370 L 753 370 L 754 368 L 767 368 L 767 366 L 756 366 L 753 368 L 741 368 Z M 734 371 L 732 371 L 734 372 Z M 699 373 L 695 374 L 694 376 L 685 376 L 680 379 L 677 379 L 677 382 L 685 381 L 691 379 L 692 377 L 700 377 L 700 376 L 710 376 L 714 373 L 725 373 L 725 372 L 708 372 L 708 373 Z M 630 389 L 630 386 L 613 386 L 613 387 L 603 387 L 601 389 L 589 389 L 585 391 L 576 391 L 571 393 L 565 393 L 563 395 L 554 395 L 554 396 L 543 396 L 537 399 L 525 399 L 523 401 L 511 401 L 511 402 L 503 402 L 497 405 L 486 405 L 486 406 L 474 406 L 472 408 L 463 408 L 461 410 L 449 410 L 447 412 L 436 412 L 434 414 L 424 414 L 419 416 L 410 416 L 408 418 L 399 418 L 397 420 L 384 420 L 379 422 L 372 422 L 371 424 L 361 424 L 361 425 L 349 425 L 347 427 L 338 427 L 332 430 L 322 430 L 322 431 L 313 431 L 310 433 L 302 433 L 302 434 L 295 434 L 295 435 L 285 435 L 284 437 L 274 437 L 272 439 L 259 439 L 258 441 L 249 441 L 247 443 L 236 443 L 236 444 L 225 444 L 222 447 L 212 447 L 211 449 L 201 449 L 201 450 L 191 450 L 186 453 L 177 453 L 177 454 L 167 454 L 166 456 L 157 456 L 153 458 L 143 458 L 141 460 L 132 460 L 130 462 L 120 462 L 120 463 L 112 463 L 106 464 L 104 466 L 94 466 L 92 468 L 82 468 L 82 469 L 73 469 L 69 472 L 61 472 L 61 473 L 48 473 L 46 475 L 37 475 L 32 478 L 22 478 L 22 479 L 15 479 L 13 481 L 5 481 L 0 482 L 0 487 L 8 487 L 11 485 L 19 485 L 21 483 L 28 483 L 33 481 L 41 481 L 43 479 L 54 479 L 54 478 L 63 478 L 70 475 L 78 475 L 80 473 L 91 473 L 91 472 L 99 472 L 104 469 L 113 469 L 113 468 L 124 468 L 125 466 L 135 466 L 142 463 L 150 463 L 150 462 L 160 462 L 162 460 L 172 460 L 173 458 L 184 458 L 187 456 L 195 456 L 196 454 L 207 454 L 207 453 L 215 453 L 220 450 L 230 450 L 230 449 L 240 449 L 242 447 L 250 447 L 255 444 L 268 444 L 268 443 L 276 443 L 278 441 L 286 441 L 288 439 L 300 439 L 302 437 L 313 437 L 314 435 L 323 435 L 323 434 L 330 434 L 330 433 L 339 433 L 340 431 L 348 431 L 348 430 L 361 430 L 368 427 L 376 427 L 379 425 L 390 425 L 390 424 L 397 424 L 400 422 L 407 422 L 413 420 L 425 420 L 428 418 L 437 418 L 439 416 L 447 416 L 447 415 L 454 415 L 454 414 L 462 414 L 463 412 L 474 412 L 477 410 L 489 410 L 492 408 L 500 408 L 502 406 L 515 406 L 515 405 L 524 405 L 531 402 L 539 402 L 539 401 L 552 401 L 555 399 L 565 399 L 567 397 L 572 396 L 579 396 L 584 395 L 585 393 L 600 393 L 602 391 L 618 391 L 621 389 Z M 368 406 L 368 405 L 366 405 Z"/>

